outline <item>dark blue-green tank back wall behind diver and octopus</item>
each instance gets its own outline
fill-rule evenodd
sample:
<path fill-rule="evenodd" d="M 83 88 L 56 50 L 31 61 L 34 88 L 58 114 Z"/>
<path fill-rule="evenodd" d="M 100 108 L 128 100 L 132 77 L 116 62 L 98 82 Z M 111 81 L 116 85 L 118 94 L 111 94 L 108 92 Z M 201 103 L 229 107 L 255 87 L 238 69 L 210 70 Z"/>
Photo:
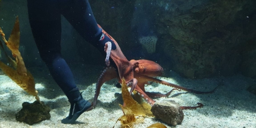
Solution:
<path fill-rule="evenodd" d="M 256 78 L 255 0 L 89 2 L 98 24 L 118 42 L 128 60 L 156 61 L 166 76 L 175 71 L 201 79 L 241 72 Z M 26 66 L 43 66 L 30 30 L 26 0 L 1 0 L 0 26 L 5 33 L 11 32 L 17 15 Z M 61 41 L 66 61 L 104 66 L 104 57 L 64 17 Z"/>

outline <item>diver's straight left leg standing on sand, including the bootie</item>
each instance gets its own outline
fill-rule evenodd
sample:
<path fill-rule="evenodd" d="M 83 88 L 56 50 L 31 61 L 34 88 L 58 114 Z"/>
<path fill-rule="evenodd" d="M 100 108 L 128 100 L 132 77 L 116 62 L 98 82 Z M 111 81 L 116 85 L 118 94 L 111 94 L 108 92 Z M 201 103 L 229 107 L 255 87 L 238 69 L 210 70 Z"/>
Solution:
<path fill-rule="evenodd" d="M 52 0 L 28 0 L 29 22 L 42 60 L 71 103 L 69 116 L 62 123 L 72 124 L 91 104 L 83 99 L 69 66 L 61 57 L 61 22 L 57 4 Z"/>

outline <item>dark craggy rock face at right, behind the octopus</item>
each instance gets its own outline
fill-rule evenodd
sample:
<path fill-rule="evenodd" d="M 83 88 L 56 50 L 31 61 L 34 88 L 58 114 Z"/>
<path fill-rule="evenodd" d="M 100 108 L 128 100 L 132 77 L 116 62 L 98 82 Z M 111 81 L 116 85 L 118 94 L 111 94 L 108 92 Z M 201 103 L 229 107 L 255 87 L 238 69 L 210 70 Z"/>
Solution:
<path fill-rule="evenodd" d="M 172 69 L 198 79 L 232 75 L 240 71 L 243 44 L 255 37 L 244 35 L 254 1 L 154 0 L 159 48 L 172 58 Z M 249 24 L 253 24 L 252 22 Z M 166 64 L 168 66 L 168 62 Z"/>

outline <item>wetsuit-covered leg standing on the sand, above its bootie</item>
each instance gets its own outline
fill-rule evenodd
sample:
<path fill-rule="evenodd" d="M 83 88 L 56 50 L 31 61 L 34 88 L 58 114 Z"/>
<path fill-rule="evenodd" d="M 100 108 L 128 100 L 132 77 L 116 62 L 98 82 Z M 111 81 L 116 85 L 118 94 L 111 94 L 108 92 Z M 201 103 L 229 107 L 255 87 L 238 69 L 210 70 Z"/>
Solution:
<path fill-rule="evenodd" d="M 61 57 L 61 23 L 60 14 L 56 12 L 54 2 L 28 0 L 28 14 L 31 30 L 35 43 L 37 44 L 40 57 L 46 63 L 54 80 L 67 94 L 76 88 L 73 75 Z M 38 6 L 39 5 L 39 6 Z M 44 9 L 39 9 L 44 8 Z M 45 11 L 43 11 L 45 10 Z M 51 11 L 51 12 L 50 12 Z"/>

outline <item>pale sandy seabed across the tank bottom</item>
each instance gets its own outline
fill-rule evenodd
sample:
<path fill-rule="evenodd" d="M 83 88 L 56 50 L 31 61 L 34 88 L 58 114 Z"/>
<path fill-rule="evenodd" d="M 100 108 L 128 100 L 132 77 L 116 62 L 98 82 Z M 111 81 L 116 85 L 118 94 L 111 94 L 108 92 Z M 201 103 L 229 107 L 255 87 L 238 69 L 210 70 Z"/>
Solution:
<path fill-rule="evenodd" d="M 95 87 L 102 66 L 83 65 L 72 63 L 77 87 L 80 88 L 83 97 L 92 100 Z M 15 113 L 22 109 L 23 102 L 32 103 L 34 97 L 28 95 L 22 88 L 15 84 L 8 76 L 0 71 L 0 128 L 120 128 L 120 122 L 116 120 L 123 115 L 118 103 L 122 104 L 121 89 L 115 87 L 117 80 L 106 82 L 101 87 L 101 92 L 95 109 L 83 113 L 76 124 L 61 124 L 61 119 L 69 113 L 70 104 L 53 81 L 45 67 L 28 68 L 33 74 L 36 89 L 39 91 L 41 101 L 51 107 L 51 119 L 44 120 L 34 125 L 17 122 Z M 193 94 L 186 91 L 174 91 L 168 98 L 181 106 L 196 106 L 197 102 L 204 104 L 203 108 L 196 110 L 183 110 L 183 122 L 175 128 L 256 128 L 256 96 L 246 89 L 256 84 L 241 74 L 233 76 L 219 76 L 210 79 L 190 80 L 184 79 L 174 72 L 172 77 L 158 77 L 158 79 L 181 85 L 200 91 L 209 91 L 221 85 L 212 94 Z M 167 93 L 171 87 L 152 83 L 146 86 L 146 91 Z M 144 118 L 141 123 L 133 125 L 134 128 L 146 128 L 154 123 L 162 123 L 161 120 Z"/>

